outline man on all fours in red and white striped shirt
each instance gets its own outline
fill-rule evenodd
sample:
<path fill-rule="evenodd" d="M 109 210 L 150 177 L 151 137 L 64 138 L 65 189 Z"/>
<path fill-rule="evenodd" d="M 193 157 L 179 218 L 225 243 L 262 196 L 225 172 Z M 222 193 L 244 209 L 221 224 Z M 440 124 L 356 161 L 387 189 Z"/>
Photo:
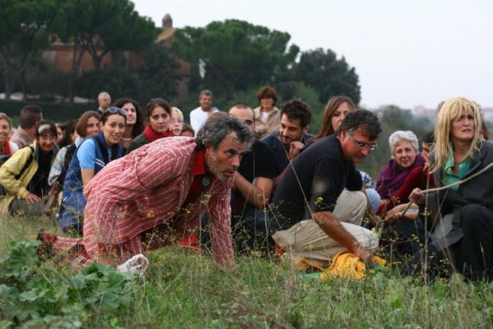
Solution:
<path fill-rule="evenodd" d="M 83 237 L 39 238 L 45 250 L 71 252 L 74 265 L 120 265 L 196 233 L 209 209 L 214 261 L 234 267 L 230 190 L 253 141 L 245 124 L 226 116 L 206 122 L 195 138 L 142 146 L 109 163 L 84 189 Z"/>

